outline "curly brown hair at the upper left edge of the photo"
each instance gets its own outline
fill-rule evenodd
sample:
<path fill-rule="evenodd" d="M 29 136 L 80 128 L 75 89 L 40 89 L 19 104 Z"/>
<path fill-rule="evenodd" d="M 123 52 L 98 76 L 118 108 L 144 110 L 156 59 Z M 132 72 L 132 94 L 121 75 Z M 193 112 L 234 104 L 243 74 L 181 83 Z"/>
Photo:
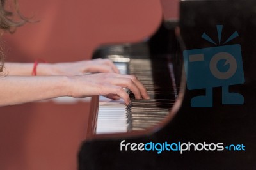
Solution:
<path fill-rule="evenodd" d="M 10 12 L 5 9 L 6 0 L 0 1 L 0 30 L 1 31 L 8 31 L 9 33 L 13 33 L 17 27 L 22 26 L 26 22 L 28 22 L 28 19 L 26 19 L 26 17 L 20 14 L 19 4 L 17 0 L 13 0 L 13 4 L 14 4 L 14 10 Z M 15 20 L 14 17 L 17 17 L 18 19 Z M 5 56 L 4 50 L 1 45 L 0 46 L 0 72 L 3 72 L 4 56 Z"/>

